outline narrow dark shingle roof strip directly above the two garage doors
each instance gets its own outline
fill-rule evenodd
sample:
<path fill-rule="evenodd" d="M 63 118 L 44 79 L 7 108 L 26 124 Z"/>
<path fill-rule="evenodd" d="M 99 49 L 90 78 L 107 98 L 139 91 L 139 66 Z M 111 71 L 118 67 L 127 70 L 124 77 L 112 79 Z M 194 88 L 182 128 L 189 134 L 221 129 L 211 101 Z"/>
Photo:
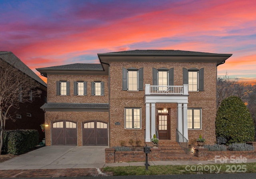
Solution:
<path fill-rule="evenodd" d="M 44 111 L 108 111 L 108 103 L 45 103 Z"/>

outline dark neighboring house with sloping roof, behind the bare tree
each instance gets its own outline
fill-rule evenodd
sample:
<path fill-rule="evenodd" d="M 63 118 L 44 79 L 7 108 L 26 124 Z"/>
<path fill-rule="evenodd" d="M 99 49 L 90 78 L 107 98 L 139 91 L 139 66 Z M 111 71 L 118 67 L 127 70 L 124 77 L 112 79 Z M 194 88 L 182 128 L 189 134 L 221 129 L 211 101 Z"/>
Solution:
<path fill-rule="evenodd" d="M 44 111 L 40 109 L 40 107 L 46 103 L 47 100 L 47 84 L 12 52 L 0 52 L 0 60 L 4 60 L 11 66 L 14 66 L 14 68 L 17 68 L 24 74 L 30 76 L 38 82 L 39 87 L 37 89 L 42 91 L 40 97 L 35 97 L 32 103 L 20 103 L 18 111 L 14 108 L 10 109 L 10 113 L 16 113 L 16 120 L 6 120 L 5 129 L 36 129 L 39 132 L 40 141 L 42 141 L 45 138 L 45 135 L 44 132 L 42 132 L 40 124 L 44 123 Z"/>

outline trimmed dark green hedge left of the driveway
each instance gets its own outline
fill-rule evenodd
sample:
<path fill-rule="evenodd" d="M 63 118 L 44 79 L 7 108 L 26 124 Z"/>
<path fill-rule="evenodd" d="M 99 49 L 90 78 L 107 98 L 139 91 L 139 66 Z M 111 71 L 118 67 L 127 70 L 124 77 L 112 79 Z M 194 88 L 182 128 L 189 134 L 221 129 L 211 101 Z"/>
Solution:
<path fill-rule="evenodd" d="M 39 143 L 39 133 L 34 129 L 4 131 L 4 153 L 20 155 L 34 149 Z"/>

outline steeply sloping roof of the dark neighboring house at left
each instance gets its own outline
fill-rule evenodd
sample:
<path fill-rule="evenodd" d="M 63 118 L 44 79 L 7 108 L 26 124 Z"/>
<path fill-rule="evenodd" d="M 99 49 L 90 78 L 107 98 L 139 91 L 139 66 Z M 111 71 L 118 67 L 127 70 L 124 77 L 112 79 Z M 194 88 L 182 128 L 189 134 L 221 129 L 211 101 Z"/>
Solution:
<path fill-rule="evenodd" d="M 0 52 L 0 58 L 47 88 L 47 84 L 12 52 Z"/>

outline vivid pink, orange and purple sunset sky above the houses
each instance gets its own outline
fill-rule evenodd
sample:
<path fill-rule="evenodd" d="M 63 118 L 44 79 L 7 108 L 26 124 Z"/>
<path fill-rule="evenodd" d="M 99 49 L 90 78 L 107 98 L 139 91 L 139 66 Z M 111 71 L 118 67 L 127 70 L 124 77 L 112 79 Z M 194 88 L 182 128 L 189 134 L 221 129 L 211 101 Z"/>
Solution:
<path fill-rule="evenodd" d="M 0 51 L 38 76 L 99 63 L 97 53 L 188 50 L 233 54 L 218 76 L 256 83 L 254 0 L 0 0 L 0 9 Z"/>

